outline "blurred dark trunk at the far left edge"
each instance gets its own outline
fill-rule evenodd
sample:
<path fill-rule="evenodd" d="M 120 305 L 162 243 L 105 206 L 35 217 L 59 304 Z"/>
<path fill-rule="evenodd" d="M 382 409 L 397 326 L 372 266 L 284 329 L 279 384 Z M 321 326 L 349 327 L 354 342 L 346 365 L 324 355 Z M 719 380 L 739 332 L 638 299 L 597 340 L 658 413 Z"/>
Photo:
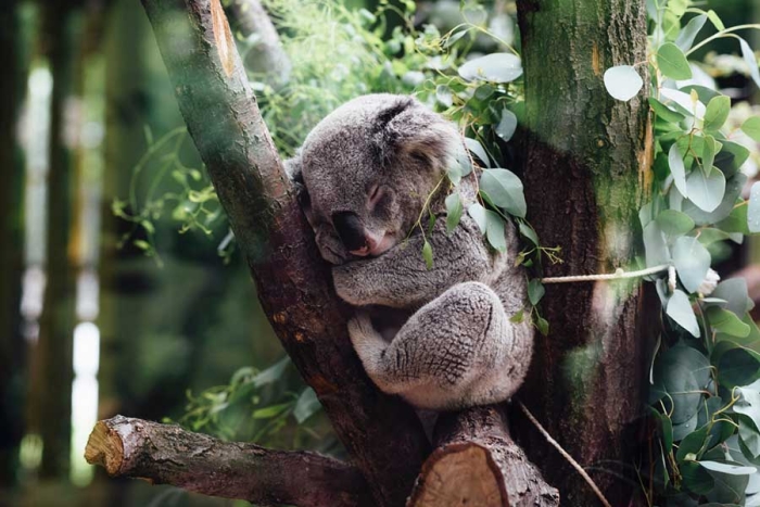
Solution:
<path fill-rule="evenodd" d="M 21 333 L 23 272 L 24 172 L 16 141 L 18 110 L 26 85 L 22 62 L 24 39 L 18 29 L 16 0 L 0 10 L 0 490 L 16 482 L 18 445 L 23 435 L 25 343 Z"/>

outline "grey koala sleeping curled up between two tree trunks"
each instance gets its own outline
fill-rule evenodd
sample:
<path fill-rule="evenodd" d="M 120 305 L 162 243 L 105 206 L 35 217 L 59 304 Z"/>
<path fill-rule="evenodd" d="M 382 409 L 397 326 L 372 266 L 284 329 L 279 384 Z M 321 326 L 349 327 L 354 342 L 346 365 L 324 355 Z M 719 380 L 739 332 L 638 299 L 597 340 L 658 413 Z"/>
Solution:
<path fill-rule="evenodd" d="M 528 319 L 510 320 L 527 304 L 514 226 L 506 252 L 486 245 L 467 213 L 446 233 L 444 178 L 464 150 L 454 125 L 417 100 L 370 94 L 322 119 L 286 164 L 335 291 L 355 307 L 349 334 L 365 370 L 420 409 L 509 398 L 533 348 Z M 465 206 L 474 180 L 459 185 Z M 416 226 L 429 198 L 430 231 L 427 212 L 426 230 Z"/>

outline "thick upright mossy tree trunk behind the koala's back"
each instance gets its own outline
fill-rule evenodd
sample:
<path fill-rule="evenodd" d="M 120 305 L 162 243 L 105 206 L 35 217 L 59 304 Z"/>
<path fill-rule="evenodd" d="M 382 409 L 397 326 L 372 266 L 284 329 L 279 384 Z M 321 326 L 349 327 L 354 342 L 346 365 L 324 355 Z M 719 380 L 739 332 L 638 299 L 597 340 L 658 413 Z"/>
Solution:
<path fill-rule="evenodd" d="M 644 92 L 615 101 L 603 74 L 646 60 L 644 2 L 518 0 L 518 13 L 529 219 L 543 244 L 562 248 L 565 261 L 546 266 L 545 275 L 625 267 L 649 188 L 650 129 Z M 647 384 L 639 305 L 637 281 L 547 286 L 541 310 L 550 332 L 536 334 L 531 373 L 519 394 L 615 506 L 639 502 L 631 432 Z M 534 430 L 521 423 L 518 436 L 559 487 L 563 505 L 598 505 Z"/>

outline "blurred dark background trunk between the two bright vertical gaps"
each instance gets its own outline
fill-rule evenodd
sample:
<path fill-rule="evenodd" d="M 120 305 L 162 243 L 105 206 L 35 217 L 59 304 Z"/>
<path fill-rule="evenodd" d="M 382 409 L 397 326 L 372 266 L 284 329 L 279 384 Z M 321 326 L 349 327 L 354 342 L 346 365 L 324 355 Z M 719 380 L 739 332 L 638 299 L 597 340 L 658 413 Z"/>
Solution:
<path fill-rule="evenodd" d="M 47 286 L 37 343 L 35 392 L 36 426 L 42 439 L 40 477 L 68 473 L 71 448 L 72 340 L 74 332 L 74 272 L 69 262 L 72 153 L 66 142 L 66 106 L 73 89 L 75 12 L 65 2 L 46 8 L 49 34 L 45 53 L 53 78 L 50 119 L 50 172 L 47 201 Z"/>

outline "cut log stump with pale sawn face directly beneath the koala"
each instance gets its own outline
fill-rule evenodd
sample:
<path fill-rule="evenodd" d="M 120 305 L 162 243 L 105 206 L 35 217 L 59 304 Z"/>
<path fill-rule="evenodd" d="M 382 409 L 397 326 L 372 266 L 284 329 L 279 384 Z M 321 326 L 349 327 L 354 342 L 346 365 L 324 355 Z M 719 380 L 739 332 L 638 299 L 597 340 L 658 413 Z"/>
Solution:
<path fill-rule="evenodd" d="M 499 407 L 443 414 L 435 443 L 409 507 L 559 505 L 557 490 L 544 482 L 509 436 Z"/>

